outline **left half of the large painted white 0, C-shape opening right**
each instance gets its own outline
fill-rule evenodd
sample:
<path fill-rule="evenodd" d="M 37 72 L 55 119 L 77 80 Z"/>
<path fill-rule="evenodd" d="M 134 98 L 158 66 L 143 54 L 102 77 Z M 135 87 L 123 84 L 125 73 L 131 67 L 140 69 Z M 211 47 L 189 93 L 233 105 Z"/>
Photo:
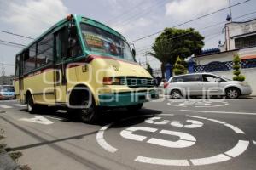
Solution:
<path fill-rule="evenodd" d="M 126 128 L 125 130 L 122 130 L 120 132 L 120 135 L 125 139 L 143 141 L 144 139 L 147 138 L 146 136 L 132 134 L 132 133 L 135 131 L 146 131 L 146 132 L 154 133 L 157 130 L 158 130 L 157 128 L 150 128 L 150 127 L 130 127 L 130 128 Z"/>

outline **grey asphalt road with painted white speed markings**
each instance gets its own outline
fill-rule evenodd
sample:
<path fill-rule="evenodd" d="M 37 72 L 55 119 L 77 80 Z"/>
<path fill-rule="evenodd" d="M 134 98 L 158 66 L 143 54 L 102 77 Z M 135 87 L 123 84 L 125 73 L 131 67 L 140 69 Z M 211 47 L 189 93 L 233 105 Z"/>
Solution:
<path fill-rule="evenodd" d="M 256 98 L 162 99 L 96 125 L 25 108 L 0 101 L 0 125 L 32 169 L 256 169 Z"/>

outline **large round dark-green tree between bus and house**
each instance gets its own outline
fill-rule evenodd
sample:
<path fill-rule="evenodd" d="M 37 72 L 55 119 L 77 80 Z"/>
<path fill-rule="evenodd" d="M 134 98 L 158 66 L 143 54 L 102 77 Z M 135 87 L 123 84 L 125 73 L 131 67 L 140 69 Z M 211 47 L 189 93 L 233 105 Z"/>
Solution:
<path fill-rule="evenodd" d="M 177 29 L 166 28 L 159 37 L 156 37 L 152 47 L 152 53 L 148 53 L 159 59 L 162 63 L 162 77 L 165 73 L 165 65 L 175 63 L 177 56 L 181 59 L 199 54 L 204 46 L 204 37 L 193 28 Z"/>

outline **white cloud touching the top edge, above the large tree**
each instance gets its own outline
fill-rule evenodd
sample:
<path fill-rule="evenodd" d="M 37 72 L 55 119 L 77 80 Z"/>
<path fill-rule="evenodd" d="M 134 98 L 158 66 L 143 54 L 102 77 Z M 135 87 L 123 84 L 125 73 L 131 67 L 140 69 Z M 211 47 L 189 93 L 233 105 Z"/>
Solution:
<path fill-rule="evenodd" d="M 226 0 L 174 0 L 166 3 L 166 16 L 188 20 L 201 14 L 207 14 L 228 5 Z"/>

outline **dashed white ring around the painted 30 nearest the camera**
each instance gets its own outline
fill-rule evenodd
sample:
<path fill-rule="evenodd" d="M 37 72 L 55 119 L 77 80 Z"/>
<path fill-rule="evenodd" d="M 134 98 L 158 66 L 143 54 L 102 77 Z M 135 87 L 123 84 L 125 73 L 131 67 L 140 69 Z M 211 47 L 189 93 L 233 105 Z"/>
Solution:
<path fill-rule="evenodd" d="M 145 115 L 145 116 L 147 116 L 147 115 Z M 166 115 L 166 116 L 169 116 L 169 115 Z M 170 115 L 170 116 L 173 116 L 173 115 Z M 133 118 L 134 117 L 136 117 L 136 116 L 133 116 Z M 188 116 L 188 117 L 194 117 L 194 118 L 199 118 L 199 119 L 208 120 L 208 121 L 212 121 L 212 122 L 217 122 L 226 127 L 230 127 L 233 131 L 235 131 L 235 133 L 244 134 L 244 132 L 241 131 L 241 129 L 239 129 L 238 127 L 235 127 L 233 125 L 230 125 L 226 122 L 221 122 L 221 121 L 218 121 L 215 119 L 208 119 L 207 117 L 202 117 L 202 116 Z M 106 131 L 111 125 L 113 125 L 113 123 L 110 123 L 105 127 L 102 127 L 96 135 L 96 140 L 97 140 L 98 144 L 100 144 L 102 146 L 103 149 L 107 150 L 108 152 L 114 153 L 118 149 L 116 149 L 113 146 L 111 146 L 110 144 L 108 144 L 103 137 L 104 131 Z M 255 141 L 253 141 L 253 144 L 255 144 L 254 142 Z M 148 164 L 166 165 L 166 166 L 201 166 L 201 165 L 218 163 L 218 162 L 222 162 L 222 161 L 229 161 L 230 159 L 232 159 L 236 156 L 240 156 L 244 151 L 246 151 L 248 145 L 249 145 L 249 141 L 239 140 L 238 143 L 236 144 L 236 146 L 234 146 L 232 149 L 224 152 L 223 154 L 218 154 L 216 156 L 209 156 L 209 157 L 198 158 L 198 159 L 190 159 L 189 161 L 191 161 L 192 164 L 190 164 L 189 161 L 186 159 L 172 160 L 172 159 L 152 158 L 152 157 L 146 157 L 146 156 L 137 156 L 137 158 L 134 161 L 148 163 Z"/>

